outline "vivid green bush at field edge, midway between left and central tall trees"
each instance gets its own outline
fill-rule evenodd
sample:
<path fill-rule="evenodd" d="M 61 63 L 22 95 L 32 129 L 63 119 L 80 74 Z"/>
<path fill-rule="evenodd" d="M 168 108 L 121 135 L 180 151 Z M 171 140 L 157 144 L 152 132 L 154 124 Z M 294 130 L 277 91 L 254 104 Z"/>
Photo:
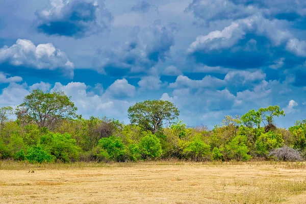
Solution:
<path fill-rule="evenodd" d="M 107 152 L 111 160 L 117 162 L 124 162 L 126 160 L 126 147 L 121 138 L 116 138 L 114 136 L 102 138 L 99 140 L 98 145 Z"/>

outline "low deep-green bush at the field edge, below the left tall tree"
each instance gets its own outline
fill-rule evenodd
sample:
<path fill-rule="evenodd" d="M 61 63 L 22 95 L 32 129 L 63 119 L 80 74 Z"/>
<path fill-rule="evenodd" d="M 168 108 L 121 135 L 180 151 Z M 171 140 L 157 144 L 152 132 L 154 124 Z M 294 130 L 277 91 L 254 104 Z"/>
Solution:
<path fill-rule="evenodd" d="M 44 163 L 44 162 L 53 162 L 56 157 L 51 155 L 47 149 L 44 149 L 41 146 L 34 146 L 28 148 L 27 155 L 25 155 L 31 163 Z"/>

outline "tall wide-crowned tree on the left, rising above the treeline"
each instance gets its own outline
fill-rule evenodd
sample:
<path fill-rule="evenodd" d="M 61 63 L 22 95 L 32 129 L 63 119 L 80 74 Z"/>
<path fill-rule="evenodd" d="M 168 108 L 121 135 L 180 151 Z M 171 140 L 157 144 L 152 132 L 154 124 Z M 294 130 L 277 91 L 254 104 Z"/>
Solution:
<path fill-rule="evenodd" d="M 21 121 L 34 121 L 39 127 L 50 128 L 60 118 L 74 117 L 77 110 L 70 97 L 64 92 L 44 93 L 36 89 L 25 96 L 16 114 Z"/>

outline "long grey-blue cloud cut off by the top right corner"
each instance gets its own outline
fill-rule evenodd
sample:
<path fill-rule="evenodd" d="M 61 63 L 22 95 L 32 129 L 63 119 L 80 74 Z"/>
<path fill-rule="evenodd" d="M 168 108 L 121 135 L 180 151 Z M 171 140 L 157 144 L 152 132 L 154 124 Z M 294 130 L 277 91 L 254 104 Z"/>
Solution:
<path fill-rule="evenodd" d="M 305 15 L 304 1 L 193 0 L 186 8 L 207 25 L 216 20 L 235 20 L 257 14 L 266 18 L 295 21 Z"/>

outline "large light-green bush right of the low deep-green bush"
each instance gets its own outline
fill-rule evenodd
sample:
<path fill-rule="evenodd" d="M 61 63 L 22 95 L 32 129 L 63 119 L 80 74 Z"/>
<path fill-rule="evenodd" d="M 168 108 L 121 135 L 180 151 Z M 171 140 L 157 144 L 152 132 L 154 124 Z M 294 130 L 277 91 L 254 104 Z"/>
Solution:
<path fill-rule="evenodd" d="M 77 161 L 80 158 L 81 148 L 67 133 L 48 133 L 41 137 L 40 144 L 61 162 Z"/>

